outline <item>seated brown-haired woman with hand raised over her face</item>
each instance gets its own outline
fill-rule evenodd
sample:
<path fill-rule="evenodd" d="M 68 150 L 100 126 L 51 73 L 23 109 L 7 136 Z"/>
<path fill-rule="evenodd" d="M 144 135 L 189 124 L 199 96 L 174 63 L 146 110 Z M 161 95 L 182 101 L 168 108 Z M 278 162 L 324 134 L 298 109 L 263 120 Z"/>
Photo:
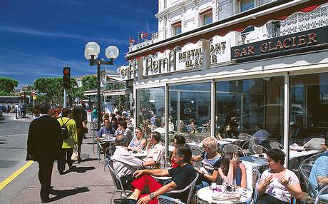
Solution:
<path fill-rule="evenodd" d="M 242 188 L 247 187 L 246 168 L 240 163 L 238 155 L 235 153 L 225 153 L 221 160 L 219 174 L 223 181 L 236 180 L 236 185 Z"/>

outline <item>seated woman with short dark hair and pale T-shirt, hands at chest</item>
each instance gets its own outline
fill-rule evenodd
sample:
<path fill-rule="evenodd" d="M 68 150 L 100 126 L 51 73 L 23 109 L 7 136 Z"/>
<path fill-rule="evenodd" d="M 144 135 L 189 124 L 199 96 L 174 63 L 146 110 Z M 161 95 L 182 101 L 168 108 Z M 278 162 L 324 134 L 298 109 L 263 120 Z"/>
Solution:
<path fill-rule="evenodd" d="M 297 175 L 284 167 L 285 153 L 275 148 L 268 150 L 267 163 L 270 169 L 262 173 L 258 188 L 262 197 L 256 203 L 290 203 L 292 196 L 299 198 L 301 186 Z"/>

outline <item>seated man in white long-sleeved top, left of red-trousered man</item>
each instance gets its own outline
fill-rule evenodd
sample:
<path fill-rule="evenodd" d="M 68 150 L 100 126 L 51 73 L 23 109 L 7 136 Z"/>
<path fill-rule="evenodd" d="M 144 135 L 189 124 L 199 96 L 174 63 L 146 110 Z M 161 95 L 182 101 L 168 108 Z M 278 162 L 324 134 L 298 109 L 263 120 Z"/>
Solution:
<path fill-rule="evenodd" d="M 115 138 L 116 151 L 111 156 L 113 168 L 121 178 L 124 189 L 130 189 L 130 183 L 133 181 L 133 173 L 141 167 L 143 161 L 135 158 L 128 151 L 128 138 L 118 135 Z"/>

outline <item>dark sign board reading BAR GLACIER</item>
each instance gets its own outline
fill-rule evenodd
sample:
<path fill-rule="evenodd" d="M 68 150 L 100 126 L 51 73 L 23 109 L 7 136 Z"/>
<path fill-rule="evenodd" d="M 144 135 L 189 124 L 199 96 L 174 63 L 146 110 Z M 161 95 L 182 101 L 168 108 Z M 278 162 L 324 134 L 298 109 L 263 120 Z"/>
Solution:
<path fill-rule="evenodd" d="M 231 48 L 231 58 L 234 61 L 252 61 L 275 56 L 285 56 L 293 53 L 304 53 L 327 49 L 328 27 L 312 29 L 287 36 L 280 36 L 252 44 Z"/>

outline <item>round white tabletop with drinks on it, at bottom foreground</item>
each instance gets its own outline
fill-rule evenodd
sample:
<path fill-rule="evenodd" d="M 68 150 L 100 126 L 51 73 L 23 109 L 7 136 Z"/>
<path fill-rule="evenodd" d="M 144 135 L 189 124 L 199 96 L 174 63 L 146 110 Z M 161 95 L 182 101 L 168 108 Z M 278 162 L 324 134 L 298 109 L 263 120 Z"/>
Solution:
<path fill-rule="evenodd" d="M 252 200 L 252 191 L 247 190 L 245 188 L 237 188 L 237 190 L 240 190 L 240 192 L 245 192 L 242 193 L 242 196 L 240 196 L 240 200 L 235 202 L 235 201 L 230 201 L 230 200 L 213 200 L 212 195 L 215 195 L 215 191 L 210 189 L 210 187 L 205 187 L 201 188 L 200 190 L 197 191 L 198 198 L 201 200 L 207 201 L 208 203 L 222 203 L 222 204 L 230 204 L 230 203 L 250 203 Z"/>

